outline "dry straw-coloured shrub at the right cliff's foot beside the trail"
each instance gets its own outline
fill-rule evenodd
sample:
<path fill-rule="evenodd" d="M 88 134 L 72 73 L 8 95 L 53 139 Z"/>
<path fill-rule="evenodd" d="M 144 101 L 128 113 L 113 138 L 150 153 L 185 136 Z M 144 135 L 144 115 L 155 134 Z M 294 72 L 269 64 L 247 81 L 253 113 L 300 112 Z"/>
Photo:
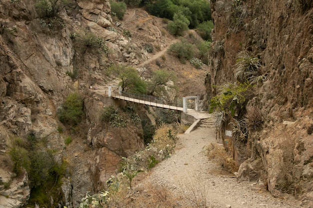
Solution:
<path fill-rule="evenodd" d="M 222 146 L 211 143 L 206 147 L 206 154 L 209 160 L 215 161 L 226 171 L 234 173 L 238 170 L 234 160 L 226 153 Z"/>

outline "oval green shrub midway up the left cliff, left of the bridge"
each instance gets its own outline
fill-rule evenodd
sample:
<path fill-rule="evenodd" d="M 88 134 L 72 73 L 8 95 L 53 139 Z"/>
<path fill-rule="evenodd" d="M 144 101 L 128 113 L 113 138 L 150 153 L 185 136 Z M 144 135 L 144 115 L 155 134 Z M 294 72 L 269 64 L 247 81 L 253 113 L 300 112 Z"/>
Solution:
<path fill-rule="evenodd" d="M 83 99 L 77 92 L 70 93 L 57 111 L 60 122 L 68 125 L 77 125 L 83 116 Z"/>

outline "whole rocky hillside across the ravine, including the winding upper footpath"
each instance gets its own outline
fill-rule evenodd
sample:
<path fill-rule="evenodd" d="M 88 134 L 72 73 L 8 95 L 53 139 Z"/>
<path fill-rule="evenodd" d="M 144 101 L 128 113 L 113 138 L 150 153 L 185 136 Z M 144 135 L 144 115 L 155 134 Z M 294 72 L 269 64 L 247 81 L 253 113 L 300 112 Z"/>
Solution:
<path fill-rule="evenodd" d="M 117 21 L 109 0 L 49 2 L 53 6 L 0 2 L 0 207 L 77 207 L 86 192 L 101 190 L 121 157 L 143 148 L 142 126 L 132 113 L 151 126 L 157 114 L 131 106 L 120 112 L 123 128 L 101 118 L 105 107 L 126 106 L 106 95 L 107 86 L 118 83 L 107 75 L 113 63 L 147 74 L 173 71 L 177 96 L 204 95 L 207 68 L 167 55 L 176 38 L 162 19 L 130 9 Z M 146 45 L 154 50 L 148 53 Z M 78 117 L 60 122 L 73 92 L 77 105 L 83 103 L 73 114 Z"/>

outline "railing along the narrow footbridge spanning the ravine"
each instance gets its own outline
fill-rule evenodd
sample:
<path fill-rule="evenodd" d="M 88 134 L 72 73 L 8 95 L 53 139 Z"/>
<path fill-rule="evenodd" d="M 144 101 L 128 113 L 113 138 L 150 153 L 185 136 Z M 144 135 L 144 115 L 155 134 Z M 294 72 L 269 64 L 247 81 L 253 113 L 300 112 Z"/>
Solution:
<path fill-rule="evenodd" d="M 161 105 L 170 105 L 170 106 L 182 108 L 182 100 L 178 100 L 178 99 L 176 99 L 174 101 L 168 101 L 168 100 L 154 97 L 154 96 L 150 96 L 150 95 L 130 93 L 130 92 L 124 92 L 124 91 L 121 91 L 120 93 L 113 91 L 113 96 L 115 98 L 120 98 L 120 99 L 123 99 L 123 97 L 128 97 L 128 98 L 133 98 L 133 99 L 137 99 L 137 100 L 143 100 L 143 101 L 150 102 L 150 103 L 157 103 L 157 104 L 161 104 Z"/>

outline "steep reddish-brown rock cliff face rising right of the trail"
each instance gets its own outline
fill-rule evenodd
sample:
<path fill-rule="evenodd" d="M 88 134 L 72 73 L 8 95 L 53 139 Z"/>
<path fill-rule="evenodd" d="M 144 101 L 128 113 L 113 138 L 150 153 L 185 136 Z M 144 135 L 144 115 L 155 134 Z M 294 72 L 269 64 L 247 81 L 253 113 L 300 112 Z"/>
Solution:
<path fill-rule="evenodd" d="M 242 167 L 261 159 L 258 168 L 266 173 L 268 190 L 275 196 L 293 194 L 303 205 L 313 200 L 312 6 L 303 0 L 211 0 L 214 31 L 206 80 L 208 97 L 214 96 L 213 85 L 235 81 L 240 53 L 260 59 L 266 81 L 247 109 L 260 109 L 263 125 L 249 131 L 247 151 L 241 152 L 249 159 Z"/>

